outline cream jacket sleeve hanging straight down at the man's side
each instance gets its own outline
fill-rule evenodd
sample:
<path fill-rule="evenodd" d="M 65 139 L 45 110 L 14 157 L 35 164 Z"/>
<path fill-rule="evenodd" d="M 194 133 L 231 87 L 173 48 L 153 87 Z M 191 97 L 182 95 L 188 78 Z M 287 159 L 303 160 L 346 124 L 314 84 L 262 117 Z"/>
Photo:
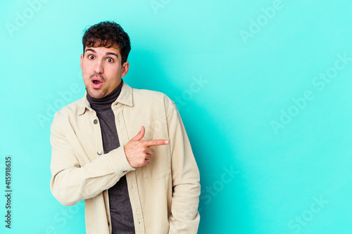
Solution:
<path fill-rule="evenodd" d="M 201 193 L 199 169 L 175 103 L 168 114 L 168 131 L 173 187 L 169 234 L 197 233 Z"/>

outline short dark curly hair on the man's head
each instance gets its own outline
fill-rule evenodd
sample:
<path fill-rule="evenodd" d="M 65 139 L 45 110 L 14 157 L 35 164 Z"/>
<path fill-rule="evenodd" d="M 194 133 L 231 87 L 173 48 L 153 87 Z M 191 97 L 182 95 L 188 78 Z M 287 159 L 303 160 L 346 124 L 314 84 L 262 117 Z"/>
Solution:
<path fill-rule="evenodd" d="M 119 24 L 111 21 L 99 22 L 89 27 L 84 32 L 82 43 L 83 53 L 86 46 L 118 48 L 122 57 L 122 64 L 127 61 L 128 54 L 131 51 L 130 37 Z"/>

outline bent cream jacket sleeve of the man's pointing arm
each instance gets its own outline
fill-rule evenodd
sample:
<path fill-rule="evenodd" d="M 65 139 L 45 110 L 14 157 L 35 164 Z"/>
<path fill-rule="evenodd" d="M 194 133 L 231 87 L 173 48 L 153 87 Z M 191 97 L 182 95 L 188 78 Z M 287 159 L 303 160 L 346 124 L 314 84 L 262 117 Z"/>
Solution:
<path fill-rule="evenodd" d="M 70 206 L 111 188 L 134 168 L 127 161 L 123 145 L 90 162 L 79 141 L 68 140 L 68 136 L 74 134 L 68 133 L 73 129 L 67 127 L 68 132 L 63 131 L 62 126 L 67 125 L 59 113 L 51 124 L 50 189 L 61 204 Z"/>

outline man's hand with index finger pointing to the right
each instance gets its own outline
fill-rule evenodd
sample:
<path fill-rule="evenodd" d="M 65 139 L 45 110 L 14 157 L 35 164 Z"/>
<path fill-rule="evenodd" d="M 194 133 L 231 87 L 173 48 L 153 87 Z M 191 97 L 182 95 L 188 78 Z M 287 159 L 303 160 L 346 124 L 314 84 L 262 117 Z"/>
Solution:
<path fill-rule="evenodd" d="M 145 131 L 144 126 L 142 126 L 141 131 L 124 146 L 127 161 L 131 167 L 149 165 L 151 163 L 151 155 L 154 153 L 150 146 L 168 145 L 169 143 L 168 140 L 141 141 Z"/>

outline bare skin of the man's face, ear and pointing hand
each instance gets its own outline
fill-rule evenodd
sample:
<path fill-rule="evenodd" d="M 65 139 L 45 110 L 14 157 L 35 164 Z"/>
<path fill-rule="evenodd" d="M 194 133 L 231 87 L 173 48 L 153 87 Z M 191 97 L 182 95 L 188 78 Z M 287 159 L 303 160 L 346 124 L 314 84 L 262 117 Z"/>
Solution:
<path fill-rule="evenodd" d="M 87 93 L 92 98 L 108 96 L 121 83 L 130 68 L 130 63 L 121 64 L 118 48 L 86 47 L 81 55 L 80 66 Z M 151 146 L 168 145 L 167 140 L 142 141 L 145 134 L 141 131 L 124 145 L 125 155 L 131 167 L 143 167 L 151 163 L 154 150 Z"/>

